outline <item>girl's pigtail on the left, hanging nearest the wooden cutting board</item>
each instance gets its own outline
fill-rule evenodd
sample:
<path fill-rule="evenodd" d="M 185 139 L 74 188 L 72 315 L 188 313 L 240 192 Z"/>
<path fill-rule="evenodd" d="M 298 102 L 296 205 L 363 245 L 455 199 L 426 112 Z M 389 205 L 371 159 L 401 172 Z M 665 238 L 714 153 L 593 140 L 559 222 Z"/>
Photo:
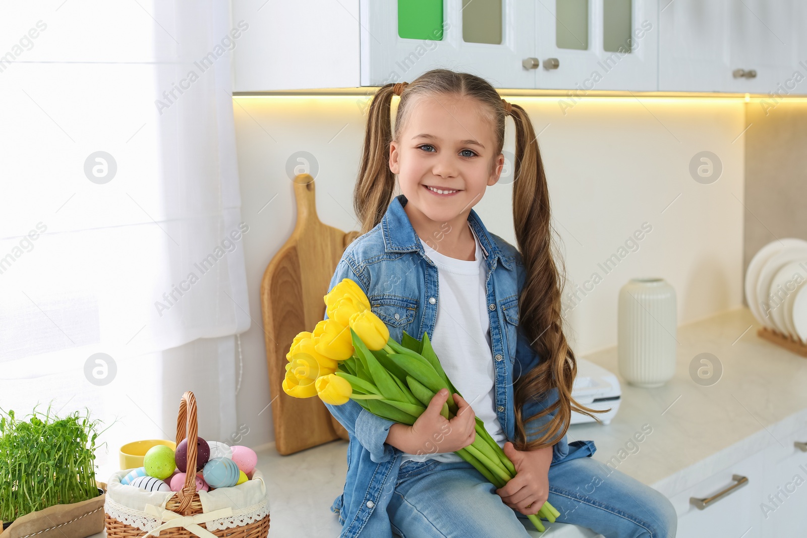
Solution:
<path fill-rule="evenodd" d="M 393 86 L 384 85 L 376 92 L 367 114 L 362 164 L 353 190 L 353 209 L 362 224 L 359 235 L 381 222 L 395 190 L 395 174 L 389 166 Z"/>

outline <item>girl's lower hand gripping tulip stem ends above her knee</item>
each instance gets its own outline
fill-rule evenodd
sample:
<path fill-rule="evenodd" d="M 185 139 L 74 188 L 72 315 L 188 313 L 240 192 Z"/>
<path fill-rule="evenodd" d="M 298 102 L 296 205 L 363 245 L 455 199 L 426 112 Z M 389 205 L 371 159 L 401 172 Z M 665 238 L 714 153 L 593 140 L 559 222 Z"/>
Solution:
<path fill-rule="evenodd" d="M 516 467 L 516 476 L 496 490 L 502 502 L 524 515 L 537 514 L 550 496 L 549 470 L 552 447 L 516 450 L 510 441 L 504 443 L 504 455 Z"/>

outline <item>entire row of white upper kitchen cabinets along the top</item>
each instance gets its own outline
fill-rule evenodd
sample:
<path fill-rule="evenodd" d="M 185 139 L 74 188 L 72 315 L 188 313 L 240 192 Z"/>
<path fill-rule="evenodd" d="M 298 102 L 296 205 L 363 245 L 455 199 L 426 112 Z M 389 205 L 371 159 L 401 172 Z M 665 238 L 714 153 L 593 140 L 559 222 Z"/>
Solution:
<path fill-rule="evenodd" d="M 378 86 L 445 67 L 497 88 L 575 95 L 807 94 L 802 0 L 233 0 L 232 9 L 234 23 L 249 24 L 233 51 L 238 93 Z"/>

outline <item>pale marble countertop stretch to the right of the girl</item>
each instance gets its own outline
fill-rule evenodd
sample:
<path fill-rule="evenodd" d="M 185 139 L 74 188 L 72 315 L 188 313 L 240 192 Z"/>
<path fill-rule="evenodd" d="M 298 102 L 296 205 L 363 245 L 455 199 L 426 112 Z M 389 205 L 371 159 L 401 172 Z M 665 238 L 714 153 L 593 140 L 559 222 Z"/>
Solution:
<path fill-rule="evenodd" d="M 669 498 L 803 429 L 807 358 L 759 338 L 759 327 L 745 307 L 678 327 L 675 376 L 653 389 L 625 382 L 616 347 L 587 355 L 619 377 L 621 407 L 608 425 L 571 426 L 569 440 L 593 440 L 593 457 L 603 463 L 621 455 L 613 460 L 617 469 Z M 723 368 L 711 386 L 690 377 L 689 365 L 702 352 Z M 644 424 L 652 433 L 632 447 Z"/>

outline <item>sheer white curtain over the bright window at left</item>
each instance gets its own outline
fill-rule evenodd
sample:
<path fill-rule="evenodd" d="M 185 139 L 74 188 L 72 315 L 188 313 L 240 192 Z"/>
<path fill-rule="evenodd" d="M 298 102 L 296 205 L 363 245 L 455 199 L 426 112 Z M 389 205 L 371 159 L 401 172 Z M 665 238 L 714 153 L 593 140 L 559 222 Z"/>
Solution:
<path fill-rule="evenodd" d="M 200 436 L 238 429 L 244 26 L 212 0 L 0 6 L 0 407 L 117 420 L 102 480 L 174 438 L 184 390 Z"/>

